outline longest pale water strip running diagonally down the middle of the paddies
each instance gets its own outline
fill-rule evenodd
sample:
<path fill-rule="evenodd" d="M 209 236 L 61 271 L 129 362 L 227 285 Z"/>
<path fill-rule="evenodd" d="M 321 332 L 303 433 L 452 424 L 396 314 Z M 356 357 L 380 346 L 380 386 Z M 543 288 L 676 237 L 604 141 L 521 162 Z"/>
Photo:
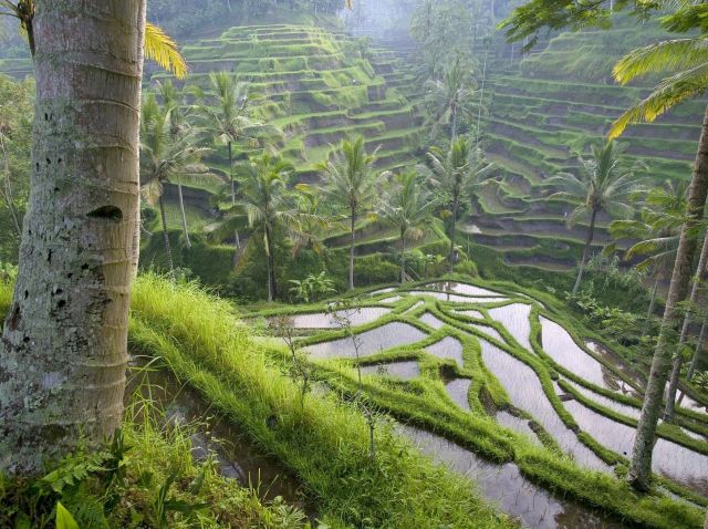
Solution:
<path fill-rule="evenodd" d="M 504 386 L 516 407 L 531 414 L 580 465 L 596 470 L 610 470 L 608 466 L 583 445 L 561 421 L 531 367 L 485 340 L 480 340 L 479 343 L 485 364 Z"/>

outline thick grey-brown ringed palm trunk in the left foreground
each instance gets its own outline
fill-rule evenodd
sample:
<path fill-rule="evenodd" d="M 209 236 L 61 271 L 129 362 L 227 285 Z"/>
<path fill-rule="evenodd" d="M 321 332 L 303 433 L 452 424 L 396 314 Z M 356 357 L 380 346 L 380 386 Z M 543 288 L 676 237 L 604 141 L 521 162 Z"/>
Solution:
<path fill-rule="evenodd" d="M 0 354 L 0 471 L 121 425 L 144 0 L 37 0 L 31 194 Z"/>

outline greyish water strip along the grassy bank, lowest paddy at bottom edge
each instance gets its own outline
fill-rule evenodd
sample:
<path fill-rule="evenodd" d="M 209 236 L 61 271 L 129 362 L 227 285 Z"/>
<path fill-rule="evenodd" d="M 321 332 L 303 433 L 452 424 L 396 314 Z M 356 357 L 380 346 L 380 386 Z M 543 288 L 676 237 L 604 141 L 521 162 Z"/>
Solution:
<path fill-rule="evenodd" d="M 469 477 L 479 492 L 525 527 L 534 529 L 618 529 L 622 523 L 593 512 L 575 502 L 556 498 L 525 479 L 519 468 L 509 463 L 494 465 L 455 443 L 434 434 L 399 426 L 399 432 L 437 463 Z"/>

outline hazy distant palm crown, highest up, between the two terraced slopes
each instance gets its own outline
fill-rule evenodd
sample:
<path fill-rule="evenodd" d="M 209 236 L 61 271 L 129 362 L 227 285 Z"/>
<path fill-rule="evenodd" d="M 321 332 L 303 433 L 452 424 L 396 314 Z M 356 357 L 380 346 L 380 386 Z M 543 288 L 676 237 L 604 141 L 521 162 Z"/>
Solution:
<path fill-rule="evenodd" d="M 431 79 L 426 82 L 426 106 L 429 122 L 433 124 L 433 135 L 440 125 L 449 125 L 450 144 L 457 137 L 458 120 L 461 115 L 471 113 L 471 96 L 475 94 L 475 80 L 471 69 L 465 68 L 460 58 L 442 74 L 442 79 Z"/>

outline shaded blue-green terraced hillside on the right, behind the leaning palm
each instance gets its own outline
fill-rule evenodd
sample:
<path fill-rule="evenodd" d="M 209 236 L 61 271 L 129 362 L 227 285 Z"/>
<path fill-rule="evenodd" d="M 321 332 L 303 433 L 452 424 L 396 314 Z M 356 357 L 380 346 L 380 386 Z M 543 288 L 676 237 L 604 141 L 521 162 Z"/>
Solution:
<path fill-rule="evenodd" d="M 601 144 L 612 121 L 648 92 L 611 81 L 613 64 L 626 51 L 663 37 L 657 29 L 627 24 L 563 33 L 516 69 L 504 63 L 507 70 L 498 68 L 489 79 L 486 149 L 498 178 L 479 197 L 467 230 L 509 264 L 569 270 L 580 256 L 584 226 L 566 226 L 571 207 L 546 201 L 543 184 L 550 175 L 574 170 L 577 154 Z M 688 179 L 704 110 L 705 102 L 694 101 L 655 124 L 629 127 L 622 138 L 628 162 L 644 160 L 646 176 L 656 183 Z M 596 247 L 608 240 L 610 220 L 600 218 Z"/>

